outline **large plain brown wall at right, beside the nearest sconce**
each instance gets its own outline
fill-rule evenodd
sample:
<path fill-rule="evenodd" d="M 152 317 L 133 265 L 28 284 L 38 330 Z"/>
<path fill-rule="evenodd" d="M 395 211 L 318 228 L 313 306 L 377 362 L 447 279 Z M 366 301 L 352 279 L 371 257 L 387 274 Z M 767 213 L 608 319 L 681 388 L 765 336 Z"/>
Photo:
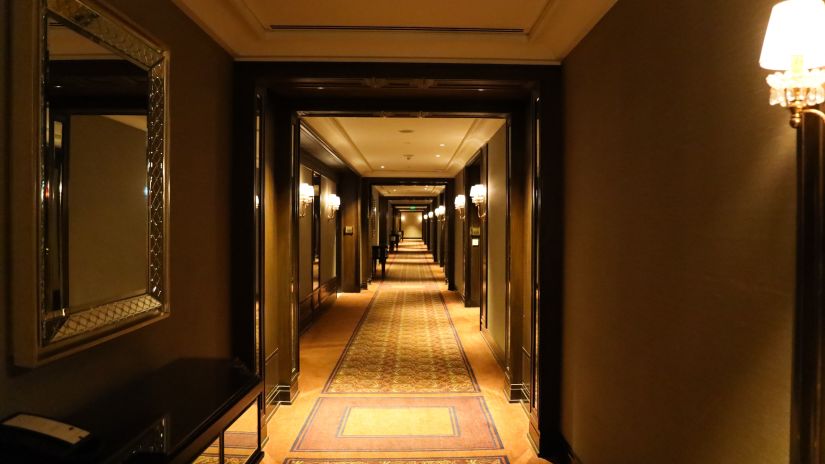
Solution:
<path fill-rule="evenodd" d="M 774 3 L 620 1 L 564 62 L 563 429 L 585 463 L 788 462 L 795 134 L 758 66 Z"/>

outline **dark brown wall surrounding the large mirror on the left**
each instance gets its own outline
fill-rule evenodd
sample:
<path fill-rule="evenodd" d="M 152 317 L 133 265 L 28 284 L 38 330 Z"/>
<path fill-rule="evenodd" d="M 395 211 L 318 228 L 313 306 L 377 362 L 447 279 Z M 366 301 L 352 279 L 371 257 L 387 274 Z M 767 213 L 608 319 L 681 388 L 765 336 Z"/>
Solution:
<path fill-rule="evenodd" d="M 6 10 L 10 2 L 0 0 Z M 169 72 L 170 307 L 171 317 L 77 355 L 34 370 L 9 365 L 7 279 L 0 298 L 0 416 L 28 411 L 61 416 L 123 383 L 182 357 L 231 357 L 230 299 L 232 59 L 168 0 L 107 0 L 138 27 L 168 47 Z M 0 44 L 7 37 L 7 11 L 0 14 Z M 7 47 L 0 46 L 0 56 Z M 5 60 L 4 60 L 5 62 Z M 204 72 L 208 69 L 209 72 Z M 0 114 L 8 120 L 7 66 Z M 205 97 L 205 96 L 208 96 Z M 29 130 L 30 128 L 14 128 Z M 7 125 L 0 141 L 7 160 Z M 8 184 L 0 163 L 0 184 Z M 0 259 L 8 263 L 8 204 L 2 189 Z M 13 272 L 14 263 L 4 269 Z M 5 272 L 5 271 L 4 271 Z"/>

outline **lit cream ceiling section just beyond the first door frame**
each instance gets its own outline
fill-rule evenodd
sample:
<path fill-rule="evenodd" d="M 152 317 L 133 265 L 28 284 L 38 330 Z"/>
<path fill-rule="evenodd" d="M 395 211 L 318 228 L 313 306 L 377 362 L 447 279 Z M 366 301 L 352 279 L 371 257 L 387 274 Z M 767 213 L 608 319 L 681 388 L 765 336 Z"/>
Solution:
<path fill-rule="evenodd" d="M 495 118 L 307 117 L 363 177 L 455 177 L 504 125 Z"/>

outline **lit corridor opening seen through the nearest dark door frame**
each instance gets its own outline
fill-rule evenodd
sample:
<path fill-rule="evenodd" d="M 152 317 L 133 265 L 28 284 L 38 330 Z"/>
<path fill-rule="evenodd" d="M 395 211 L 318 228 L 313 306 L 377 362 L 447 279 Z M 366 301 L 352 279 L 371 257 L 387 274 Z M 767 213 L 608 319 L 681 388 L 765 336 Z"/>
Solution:
<path fill-rule="evenodd" d="M 300 366 L 291 374 L 301 394 L 289 401 L 269 396 L 290 404 L 271 415 L 269 436 L 288 438 L 272 440 L 269 452 L 300 458 L 324 443 L 348 457 L 357 450 L 353 442 L 398 452 L 425 445 L 529 451 L 529 409 L 517 404 L 523 382 L 512 383 L 520 369 L 505 354 L 522 334 L 513 321 L 524 317 L 509 314 L 509 115 L 296 112 L 291 123 L 298 137 L 292 145 L 297 175 L 289 184 L 297 200 L 290 211 L 297 222 L 293 356 Z M 334 211 L 331 195 L 340 195 Z M 344 289 L 344 281 L 358 285 Z M 277 310 L 265 309 L 264 317 L 282 319 Z M 443 448 L 416 438 L 419 408 L 439 410 L 455 394 L 468 395 L 468 404 L 448 406 L 459 411 L 451 423 L 481 424 L 492 433 L 456 436 Z M 407 427 L 410 436 L 382 442 L 359 432 L 353 436 L 363 440 L 337 441 L 316 416 L 324 408 L 331 416 L 361 411 L 362 401 L 395 411 L 392 420 L 371 409 L 341 420 L 359 430 Z M 290 426 L 301 432 L 282 433 Z M 521 440 L 505 449 L 502 434 Z"/>

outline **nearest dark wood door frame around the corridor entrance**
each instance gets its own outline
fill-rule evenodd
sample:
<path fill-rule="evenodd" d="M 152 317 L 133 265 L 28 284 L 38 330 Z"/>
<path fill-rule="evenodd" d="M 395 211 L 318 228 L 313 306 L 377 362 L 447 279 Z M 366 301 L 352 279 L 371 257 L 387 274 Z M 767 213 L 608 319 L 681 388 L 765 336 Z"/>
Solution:
<path fill-rule="evenodd" d="M 530 398 L 530 437 L 539 455 L 566 460 L 567 446 L 561 432 L 561 321 L 562 321 L 562 101 L 559 66 L 456 65 L 398 63 L 236 63 L 236 148 L 240 154 L 233 169 L 234 192 L 252 194 L 249 158 L 252 138 L 252 99 L 265 92 L 268 106 L 278 112 L 334 111 L 337 114 L 364 111 L 431 115 L 433 113 L 514 114 L 530 108 L 536 115 L 535 183 L 532 217 L 537 242 L 534 259 L 533 308 L 536 356 L 533 359 L 533 389 Z M 481 91 L 479 91 L 481 90 Z M 535 96 L 540 96 L 540 101 Z M 280 131 L 276 131 L 280 132 Z M 283 132 L 280 132 L 283 134 Z M 276 134 L 277 137 L 277 134 Z M 289 137 L 289 136 L 287 136 Z M 541 144 L 538 143 L 541 140 Z M 281 140 L 282 147 L 285 141 Z M 534 144 L 530 144 L 534 145 Z M 248 149 L 247 149 L 248 148 Z M 280 153 L 280 152 L 279 152 Z M 281 155 L 278 155 L 279 157 Z M 244 161 L 246 159 L 246 161 Z M 288 163 L 292 160 L 281 160 Z M 245 192 L 248 192 L 247 195 Z M 361 186 L 362 208 L 365 185 Z M 297 203 L 293 200 L 293 203 Z M 237 226 L 233 245 L 239 248 L 237 264 L 254 256 L 252 214 L 237 217 L 249 225 Z M 293 205 L 294 209 L 294 205 Z M 249 212 L 251 213 L 251 212 Z M 361 215 L 362 221 L 366 218 Z M 362 235 L 363 237 L 363 235 Z M 247 269 L 252 269 L 249 259 Z M 241 279 L 236 279 L 242 285 Z M 249 287 L 250 280 L 246 281 Z M 243 290 L 239 290 L 242 293 Z M 251 289 L 243 300 L 251 300 Z M 525 302 L 527 304 L 527 302 Z M 254 360 L 243 359 L 253 364 Z"/>

